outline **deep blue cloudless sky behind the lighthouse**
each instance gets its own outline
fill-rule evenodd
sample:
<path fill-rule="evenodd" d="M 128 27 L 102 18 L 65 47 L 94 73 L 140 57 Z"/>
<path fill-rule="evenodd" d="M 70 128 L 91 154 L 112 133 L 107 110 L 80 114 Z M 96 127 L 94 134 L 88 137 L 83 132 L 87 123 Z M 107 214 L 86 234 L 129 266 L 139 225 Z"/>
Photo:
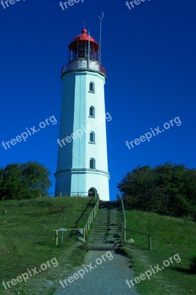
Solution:
<path fill-rule="evenodd" d="M 172 160 L 196 167 L 195 0 L 146 0 L 131 10 L 122 0 L 80 0 L 64 11 L 59 0 L 0 5 L 0 166 L 38 161 L 51 171 L 54 192 L 61 67 L 84 19 L 98 40 L 101 10 L 112 200 L 119 180 L 138 164 Z M 7 150 L 1 146 L 52 115 L 55 125 Z M 173 123 L 150 142 L 125 146 L 176 117 L 181 125 Z"/>

